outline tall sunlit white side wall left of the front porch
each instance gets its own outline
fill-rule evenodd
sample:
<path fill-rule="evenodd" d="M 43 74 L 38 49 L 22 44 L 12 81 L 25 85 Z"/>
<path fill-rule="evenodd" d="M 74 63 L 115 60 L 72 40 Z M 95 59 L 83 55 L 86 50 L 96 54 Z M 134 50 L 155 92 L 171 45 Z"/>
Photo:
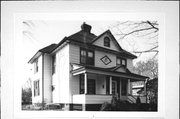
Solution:
<path fill-rule="evenodd" d="M 58 94 L 53 96 L 53 102 L 69 103 L 70 101 L 69 67 L 69 45 L 66 45 L 56 53 L 56 73 L 53 82 L 57 82 L 55 90 L 58 90 L 56 91 Z"/>

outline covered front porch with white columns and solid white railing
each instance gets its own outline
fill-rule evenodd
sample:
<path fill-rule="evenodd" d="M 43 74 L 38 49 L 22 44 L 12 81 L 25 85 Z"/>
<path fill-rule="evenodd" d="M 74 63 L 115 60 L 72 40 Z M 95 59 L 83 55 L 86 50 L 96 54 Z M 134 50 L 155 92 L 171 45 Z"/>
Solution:
<path fill-rule="evenodd" d="M 110 103 L 112 96 L 130 103 L 136 103 L 137 97 L 132 95 L 132 82 L 144 81 L 145 83 L 145 77 L 140 75 L 87 67 L 74 69 L 72 75 L 79 77 L 79 94 L 73 94 L 72 103 L 84 106 L 87 104 L 103 104 L 104 102 Z M 144 89 L 146 92 L 146 88 Z M 144 102 L 145 96 L 140 98 L 143 98 L 142 103 L 146 103 Z"/>

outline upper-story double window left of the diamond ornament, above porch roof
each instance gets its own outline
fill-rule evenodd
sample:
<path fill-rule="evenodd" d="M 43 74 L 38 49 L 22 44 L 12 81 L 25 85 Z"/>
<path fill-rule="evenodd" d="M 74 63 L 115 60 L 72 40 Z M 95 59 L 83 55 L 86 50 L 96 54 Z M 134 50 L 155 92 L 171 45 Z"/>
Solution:
<path fill-rule="evenodd" d="M 87 49 L 80 49 L 80 63 L 94 65 L 94 52 Z"/>

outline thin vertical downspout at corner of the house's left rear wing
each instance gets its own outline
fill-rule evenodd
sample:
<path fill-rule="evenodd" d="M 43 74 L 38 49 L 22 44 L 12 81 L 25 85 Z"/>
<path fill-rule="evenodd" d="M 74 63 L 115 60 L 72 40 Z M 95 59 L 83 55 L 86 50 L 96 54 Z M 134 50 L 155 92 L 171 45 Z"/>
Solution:
<path fill-rule="evenodd" d="M 42 53 L 42 106 L 44 109 L 44 53 Z"/>

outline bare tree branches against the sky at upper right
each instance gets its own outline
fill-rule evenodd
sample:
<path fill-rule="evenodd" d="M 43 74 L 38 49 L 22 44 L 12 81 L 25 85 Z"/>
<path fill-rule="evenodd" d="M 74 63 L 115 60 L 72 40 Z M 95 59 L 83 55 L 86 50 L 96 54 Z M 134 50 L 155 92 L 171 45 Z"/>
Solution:
<path fill-rule="evenodd" d="M 132 52 L 136 54 L 154 53 L 154 57 L 158 55 L 158 22 L 157 21 L 125 21 L 117 22 L 110 26 L 113 34 L 120 41 L 126 40 L 133 47 Z M 144 39 L 146 49 L 135 48 L 135 41 L 127 39 Z"/>

